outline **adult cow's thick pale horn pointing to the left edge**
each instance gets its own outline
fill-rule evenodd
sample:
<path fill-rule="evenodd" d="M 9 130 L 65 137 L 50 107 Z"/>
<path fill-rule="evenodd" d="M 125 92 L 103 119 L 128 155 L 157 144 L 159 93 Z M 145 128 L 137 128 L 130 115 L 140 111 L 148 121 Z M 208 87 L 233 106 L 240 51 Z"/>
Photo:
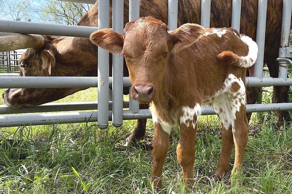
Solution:
<path fill-rule="evenodd" d="M 0 36 L 0 52 L 24 48 L 41 48 L 45 43 L 45 38 L 42 35 L 16 34 Z"/>

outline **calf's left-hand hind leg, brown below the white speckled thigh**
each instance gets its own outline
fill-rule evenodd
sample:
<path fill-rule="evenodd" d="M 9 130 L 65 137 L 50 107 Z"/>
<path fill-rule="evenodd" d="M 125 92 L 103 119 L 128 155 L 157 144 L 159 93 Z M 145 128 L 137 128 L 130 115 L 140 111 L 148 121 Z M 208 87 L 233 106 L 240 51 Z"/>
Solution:
<path fill-rule="evenodd" d="M 221 149 L 221 155 L 219 158 L 218 167 L 213 177 L 215 181 L 222 180 L 223 176 L 228 172 L 230 155 L 233 149 L 233 145 L 234 145 L 234 142 L 233 142 L 232 129 L 231 127 L 229 129 L 226 129 L 224 127 L 224 124 L 222 123 L 222 149 Z"/>

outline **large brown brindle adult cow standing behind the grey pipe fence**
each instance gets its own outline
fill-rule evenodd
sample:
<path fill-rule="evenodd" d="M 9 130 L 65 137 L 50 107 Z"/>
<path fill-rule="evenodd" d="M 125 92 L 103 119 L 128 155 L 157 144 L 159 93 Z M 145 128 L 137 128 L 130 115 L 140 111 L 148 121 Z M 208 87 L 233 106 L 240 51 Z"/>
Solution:
<path fill-rule="evenodd" d="M 153 16 L 167 23 L 167 0 L 140 0 L 140 16 Z M 265 58 L 270 75 L 278 76 L 278 51 L 281 35 L 281 11 L 283 1 L 271 0 L 267 4 L 267 29 L 265 41 Z M 242 0 L 240 32 L 256 39 L 256 24 L 258 0 Z M 231 0 L 213 0 L 211 3 L 211 27 L 230 27 Z M 124 0 L 124 24 L 128 22 L 128 0 Z M 98 2 L 84 15 L 77 25 L 97 26 Z M 112 5 L 110 5 L 110 25 L 112 24 Z M 184 23 L 200 23 L 201 0 L 181 0 L 178 4 L 178 26 Z M 6 42 L 17 39 L 22 44 L 18 48 L 32 47 L 20 59 L 20 76 L 50 76 L 48 68 L 51 67 L 51 76 L 96 76 L 97 75 L 97 47 L 89 38 L 49 36 L 13 35 L 1 37 Z M 0 45 L 1 47 L 1 45 Z M 17 49 L 17 48 L 14 48 Z M 128 76 L 126 63 L 124 63 L 124 76 Z M 112 61 L 110 60 L 110 75 Z M 44 70 L 45 69 L 45 70 Z M 253 75 L 249 69 L 247 75 Z M 68 89 L 8 89 L 2 95 L 4 103 L 8 106 L 20 108 L 35 106 L 64 98 L 85 88 Z M 247 103 L 256 102 L 259 88 L 247 89 Z M 288 87 L 274 87 L 274 102 L 281 103 L 288 100 Z M 287 116 L 287 112 L 279 113 L 279 121 Z M 250 114 L 248 115 L 248 118 Z M 136 128 L 128 141 L 139 140 L 145 134 L 146 119 L 137 122 Z"/>

